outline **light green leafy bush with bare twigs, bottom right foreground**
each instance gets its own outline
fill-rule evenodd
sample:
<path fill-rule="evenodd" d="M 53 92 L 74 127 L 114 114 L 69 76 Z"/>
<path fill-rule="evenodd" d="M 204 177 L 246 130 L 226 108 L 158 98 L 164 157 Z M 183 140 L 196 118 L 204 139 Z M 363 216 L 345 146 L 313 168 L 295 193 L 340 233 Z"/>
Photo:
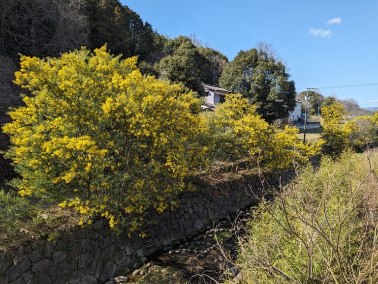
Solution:
<path fill-rule="evenodd" d="M 271 202 L 239 239 L 246 283 L 377 283 L 378 152 L 323 158 Z"/>

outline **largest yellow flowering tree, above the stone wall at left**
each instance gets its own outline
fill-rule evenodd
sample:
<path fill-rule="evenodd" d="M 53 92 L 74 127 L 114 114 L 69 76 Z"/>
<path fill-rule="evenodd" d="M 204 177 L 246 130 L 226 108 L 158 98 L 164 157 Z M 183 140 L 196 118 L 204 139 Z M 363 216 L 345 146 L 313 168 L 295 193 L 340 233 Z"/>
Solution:
<path fill-rule="evenodd" d="M 15 83 L 32 96 L 3 127 L 21 195 L 131 229 L 146 209 L 175 204 L 186 178 L 207 163 L 208 126 L 195 93 L 141 75 L 136 63 L 106 47 L 21 57 Z"/>

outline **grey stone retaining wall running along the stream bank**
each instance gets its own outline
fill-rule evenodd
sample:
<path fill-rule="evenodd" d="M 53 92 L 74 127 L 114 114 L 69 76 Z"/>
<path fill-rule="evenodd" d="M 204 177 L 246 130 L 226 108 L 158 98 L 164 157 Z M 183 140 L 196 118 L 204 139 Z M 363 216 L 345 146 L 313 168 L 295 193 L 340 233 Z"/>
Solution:
<path fill-rule="evenodd" d="M 292 172 L 268 175 L 277 185 Z M 17 251 L 0 253 L 0 284 L 97 284 L 113 277 L 118 268 L 132 265 L 191 232 L 213 225 L 215 220 L 245 208 L 261 188 L 258 176 L 238 176 L 223 180 L 202 179 L 195 192 L 182 194 L 174 211 L 149 212 L 154 225 L 127 237 L 114 235 L 106 222 L 97 220 L 90 229 L 64 232 L 56 242 L 40 240 Z"/>

